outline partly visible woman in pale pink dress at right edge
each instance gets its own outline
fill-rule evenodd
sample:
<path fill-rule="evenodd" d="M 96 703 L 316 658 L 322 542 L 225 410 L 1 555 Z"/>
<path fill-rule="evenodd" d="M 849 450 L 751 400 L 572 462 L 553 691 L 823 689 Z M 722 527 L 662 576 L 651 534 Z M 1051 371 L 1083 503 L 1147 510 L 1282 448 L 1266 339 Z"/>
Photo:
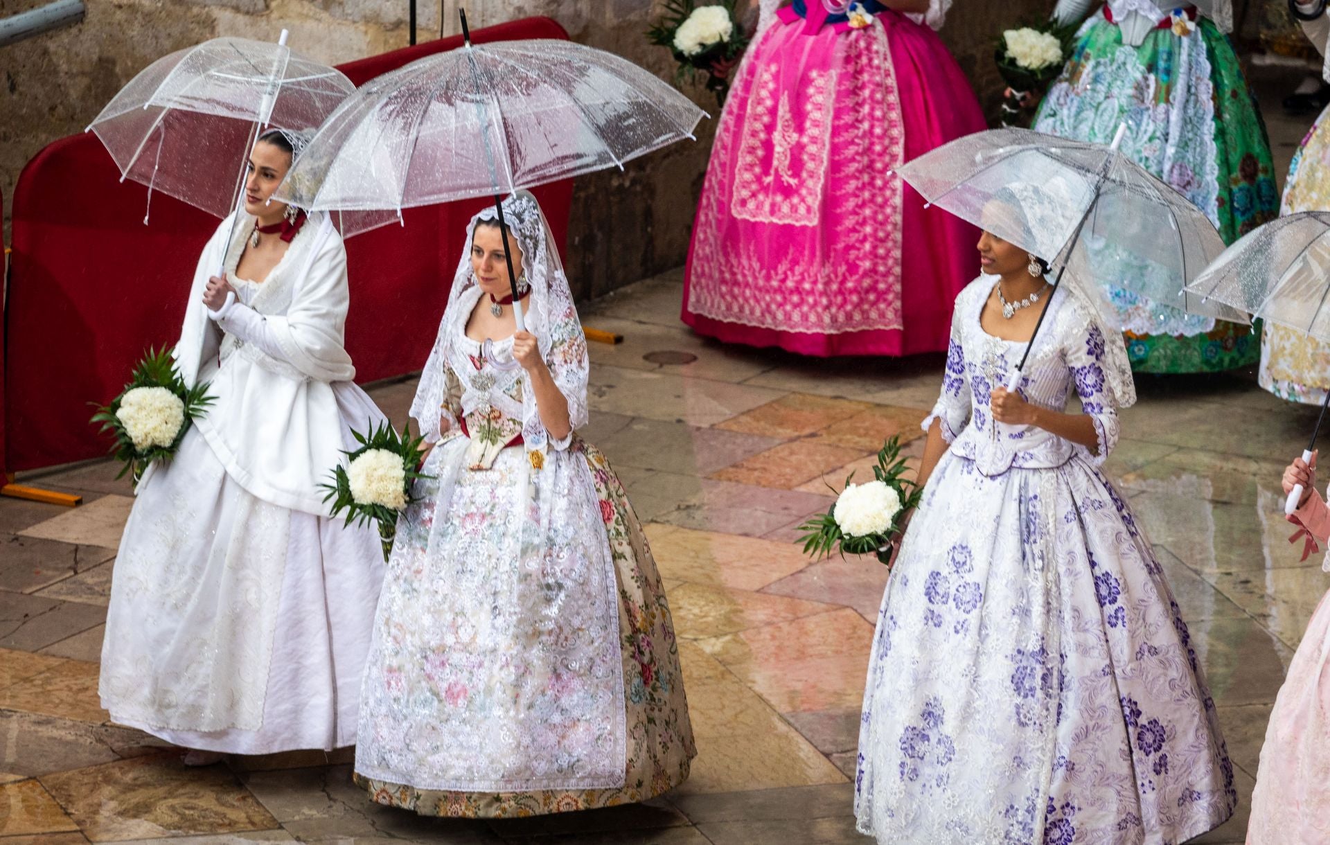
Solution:
<path fill-rule="evenodd" d="M 1315 490 L 1315 455 L 1283 471 L 1283 492 L 1302 484 L 1302 503 L 1289 522 L 1301 527 L 1306 551 L 1330 539 L 1330 506 Z M 1294 539 L 1302 539 L 1298 535 Z M 1330 558 L 1325 568 L 1330 571 Z M 1252 793 L 1248 845 L 1330 842 L 1330 593 L 1322 596 L 1289 676 L 1270 712 L 1261 768 Z"/>

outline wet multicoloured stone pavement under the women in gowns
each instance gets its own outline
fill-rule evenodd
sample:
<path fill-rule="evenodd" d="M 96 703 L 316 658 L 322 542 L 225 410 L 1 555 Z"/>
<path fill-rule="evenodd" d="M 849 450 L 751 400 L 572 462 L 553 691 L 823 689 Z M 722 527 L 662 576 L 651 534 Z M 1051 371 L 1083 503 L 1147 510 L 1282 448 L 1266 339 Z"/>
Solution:
<path fill-rule="evenodd" d="M 348 752 L 186 769 L 180 752 L 108 724 L 97 701 L 106 595 L 129 487 L 94 462 L 24 480 L 76 510 L 0 500 L 0 845 L 420 841 L 741 845 L 864 842 L 851 785 L 872 560 L 807 560 L 793 540 L 841 483 L 918 423 L 940 357 L 805 361 L 728 349 L 677 321 L 681 275 L 584 309 L 622 333 L 592 345 L 592 424 L 648 526 L 682 640 L 700 756 L 646 805 L 473 822 L 370 804 Z M 669 354 L 661 354 L 669 353 Z M 371 393 L 403 421 L 414 381 Z M 1250 374 L 1140 379 L 1109 468 L 1184 608 L 1238 769 L 1244 806 L 1198 842 L 1241 842 L 1265 723 L 1330 584 L 1287 543 L 1277 484 L 1314 422 Z"/>

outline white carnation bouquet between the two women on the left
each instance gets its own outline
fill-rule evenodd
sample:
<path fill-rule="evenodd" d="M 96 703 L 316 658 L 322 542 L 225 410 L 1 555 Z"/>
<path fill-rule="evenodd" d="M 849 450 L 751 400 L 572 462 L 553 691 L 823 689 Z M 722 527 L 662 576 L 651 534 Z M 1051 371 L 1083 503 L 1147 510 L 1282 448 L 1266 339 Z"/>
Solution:
<path fill-rule="evenodd" d="M 347 464 L 332 470 L 331 484 L 319 484 L 329 491 L 323 500 L 332 502 L 334 516 L 346 511 L 348 526 L 363 526 L 374 520 L 386 562 L 398 535 L 398 516 L 415 502 L 411 483 L 418 478 L 428 478 L 418 471 L 426 452 L 420 448 L 424 438 L 399 435 L 388 423 L 376 426 L 368 435 L 359 431 L 352 431 L 351 435 L 360 448 L 343 452 Z"/>

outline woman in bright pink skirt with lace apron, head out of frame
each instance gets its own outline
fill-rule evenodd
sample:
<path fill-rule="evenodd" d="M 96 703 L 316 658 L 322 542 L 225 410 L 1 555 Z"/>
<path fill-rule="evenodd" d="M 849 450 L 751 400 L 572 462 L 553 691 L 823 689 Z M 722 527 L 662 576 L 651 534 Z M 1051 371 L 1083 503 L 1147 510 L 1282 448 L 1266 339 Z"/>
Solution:
<path fill-rule="evenodd" d="M 934 32 L 951 0 L 778 5 L 721 116 L 684 322 L 805 355 L 942 351 L 979 236 L 894 170 L 984 128 Z"/>

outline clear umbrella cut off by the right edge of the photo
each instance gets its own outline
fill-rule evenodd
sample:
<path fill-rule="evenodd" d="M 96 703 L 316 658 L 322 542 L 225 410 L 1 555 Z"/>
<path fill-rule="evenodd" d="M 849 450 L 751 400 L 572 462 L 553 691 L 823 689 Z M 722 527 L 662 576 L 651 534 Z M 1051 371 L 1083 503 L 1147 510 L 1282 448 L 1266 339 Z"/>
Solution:
<path fill-rule="evenodd" d="M 1330 341 L 1330 212 L 1302 212 L 1267 222 L 1228 248 L 1188 291 Z M 1327 405 L 1330 391 L 1303 460 L 1311 460 Z M 1302 492 L 1297 487 L 1289 495 L 1289 514 L 1297 510 Z"/>

